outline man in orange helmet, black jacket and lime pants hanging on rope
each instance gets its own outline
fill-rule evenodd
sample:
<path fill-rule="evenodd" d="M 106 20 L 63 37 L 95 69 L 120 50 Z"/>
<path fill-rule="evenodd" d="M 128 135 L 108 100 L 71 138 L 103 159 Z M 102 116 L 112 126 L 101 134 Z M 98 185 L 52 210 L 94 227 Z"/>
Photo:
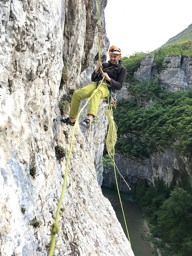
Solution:
<path fill-rule="evenodd" d="M 90 99 L 90 104 L 88 108 L 88 118 L 80 122 L 80 125 L 89 128 L 92 119 L 96 116 L 97 109 L 99 107 L 100 99 L 107 99 L 110 96 L 110 88 L 113 90 L 120 90 L 125 82 L 126 68 L 122 65 L 121 50 L 117 46 L 111 46 L 109 48 L 109 61 L 108 63 L 98 62 L 96 64 L 96 69 L 92 73 L 92 84 L 75 91 L 73 93 L 71 101 L 71 109 L 69 113 L 69 118 L 60 119 L 61 122 L 74 126 L 75 119 L 78 114 L 80 101 L 91 97 L 94 90 L 96 90 L 98 84 L 105 77 L 106 83 L 102 82 L 100 87 L 97 89 L 96 93 Z M 103 73 L 100 71 L 100 67 Z"/>

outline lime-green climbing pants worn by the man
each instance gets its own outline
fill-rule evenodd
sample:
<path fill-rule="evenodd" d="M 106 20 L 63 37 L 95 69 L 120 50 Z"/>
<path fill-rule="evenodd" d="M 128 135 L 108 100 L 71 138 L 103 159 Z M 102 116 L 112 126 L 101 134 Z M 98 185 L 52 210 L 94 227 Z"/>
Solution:
<path fill-rule="evenodd" d="M 92 84 L 88 84 L 87 86 L 73 93 L 73 97 L 71 101 L 71 109 L 69 113 L 70 118 L 77 117 L 80 101 L 90 98 L 92 96 L 92 93 L 96 90 L 96 84 L 97 84 L 96 82 Z M 108 98 L 109 95 L 110 95 L 110 92 L 107 85 L 105 83 L 102 83 L 100 87 L 96 90 L 96 93 L 90 99 L 87 115 L 92 114 L 95 117 L 97 113 L 97 109 L 99 108 L 100 99 L 106 100 L 106 98 Z"/>

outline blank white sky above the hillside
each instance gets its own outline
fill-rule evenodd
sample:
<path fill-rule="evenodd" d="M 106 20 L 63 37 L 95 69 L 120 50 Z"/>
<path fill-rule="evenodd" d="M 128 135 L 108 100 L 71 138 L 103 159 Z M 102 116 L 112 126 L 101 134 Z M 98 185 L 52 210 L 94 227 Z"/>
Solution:
<path fill-rule="evenodd" d="M 192 24 L 192 0 L 108 0 L 106 35 L 122 56 L 152 51 Z"/>

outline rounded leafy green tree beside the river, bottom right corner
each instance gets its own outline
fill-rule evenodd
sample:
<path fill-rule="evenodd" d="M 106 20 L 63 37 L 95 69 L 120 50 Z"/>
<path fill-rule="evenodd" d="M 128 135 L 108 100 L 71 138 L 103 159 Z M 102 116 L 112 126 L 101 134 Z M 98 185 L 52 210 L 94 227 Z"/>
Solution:
<path fill-rule="evenodd" d="M 178 187 L 171 191 L 158 211 L 158 227 L 173 252 L 192 255 L 192 196 L 187 191 Z"/>

